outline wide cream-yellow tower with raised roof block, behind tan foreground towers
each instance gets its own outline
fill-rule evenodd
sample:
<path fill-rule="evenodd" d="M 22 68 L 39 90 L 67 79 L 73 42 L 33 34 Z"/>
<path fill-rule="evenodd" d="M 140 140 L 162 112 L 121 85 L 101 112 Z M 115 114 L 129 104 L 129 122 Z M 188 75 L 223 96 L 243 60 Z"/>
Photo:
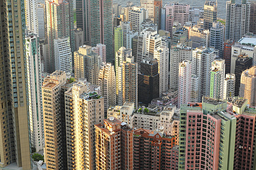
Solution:
<path fill-rule="evenodd" d="M 74 53 L 75 78 L 84 79 L 92 84 L 98 83 L 98 73 L 100 72 L 101 58 L 92 52 L 92 47 L 83 45 Z"/>

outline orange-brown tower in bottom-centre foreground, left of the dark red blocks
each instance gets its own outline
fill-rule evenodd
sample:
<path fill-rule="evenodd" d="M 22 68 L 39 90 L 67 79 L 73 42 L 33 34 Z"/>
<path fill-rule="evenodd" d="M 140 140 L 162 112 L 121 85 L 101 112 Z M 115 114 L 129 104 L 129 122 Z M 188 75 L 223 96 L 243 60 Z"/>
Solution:
<path fill-rule="evenodd" d="M 95 136 L 96 169 L 133 169 L 133 129 L 125 122 L 105 119 L 95 125 Z"/>

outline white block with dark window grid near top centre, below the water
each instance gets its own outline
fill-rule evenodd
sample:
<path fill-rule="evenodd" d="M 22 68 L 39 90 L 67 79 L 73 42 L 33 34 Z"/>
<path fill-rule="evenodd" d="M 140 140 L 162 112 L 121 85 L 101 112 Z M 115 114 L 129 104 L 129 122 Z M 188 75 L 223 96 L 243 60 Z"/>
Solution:
<path fill-rule="evenodd" d="M 143 8 L 134 7 L 129 11 L 129 22 L 131 22 L 131 29 L 141 32 L 141 23 L 148 19 L 148 11 Z"/>

